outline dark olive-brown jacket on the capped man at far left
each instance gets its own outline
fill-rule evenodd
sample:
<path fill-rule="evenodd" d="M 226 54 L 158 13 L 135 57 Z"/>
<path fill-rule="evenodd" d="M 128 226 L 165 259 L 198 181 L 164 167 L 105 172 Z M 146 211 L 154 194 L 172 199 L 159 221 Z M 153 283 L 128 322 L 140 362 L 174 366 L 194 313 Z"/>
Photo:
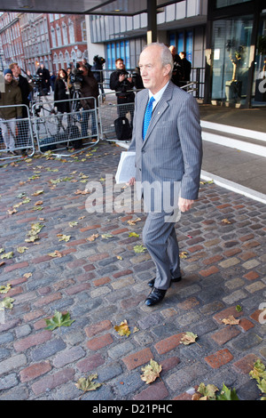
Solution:
<path fill-rule="evenodd" d="M 22 104 L 22 96 L 18 82 L 14 79 L 12 79 L 11 83 L 5 81 L 5 91 L 1 92 L 0 106 L 20 104 Z M 22 117 L 21 106 L 0 109 L 0 118 L 15 119 L 16 117 Z"/>

